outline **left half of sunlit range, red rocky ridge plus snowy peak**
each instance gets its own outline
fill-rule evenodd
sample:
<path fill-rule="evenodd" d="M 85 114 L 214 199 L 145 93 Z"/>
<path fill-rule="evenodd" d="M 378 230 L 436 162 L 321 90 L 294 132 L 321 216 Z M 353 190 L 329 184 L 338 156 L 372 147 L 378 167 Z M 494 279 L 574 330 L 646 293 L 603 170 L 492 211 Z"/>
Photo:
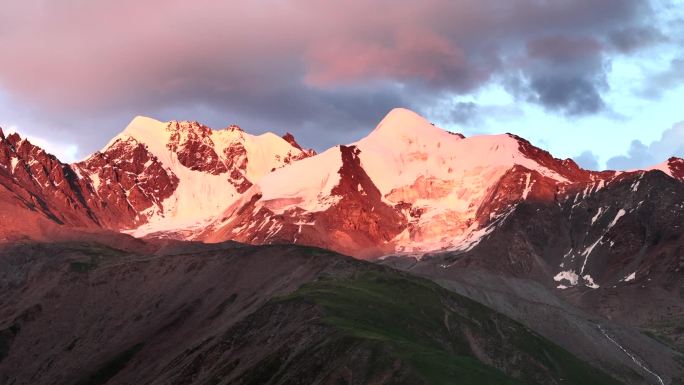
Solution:
<path fill-rule="evenodd" d="M 72 165 L 18 134 L 0 134 L 0 182 L 12 197 L 6 201 L 30 215 L 144 235 L 202 223 L 263 175 L 314 154 L 290 134 L 255 136 L 237 126 L 212 130 L 137 117 L 101 151 Z"/>

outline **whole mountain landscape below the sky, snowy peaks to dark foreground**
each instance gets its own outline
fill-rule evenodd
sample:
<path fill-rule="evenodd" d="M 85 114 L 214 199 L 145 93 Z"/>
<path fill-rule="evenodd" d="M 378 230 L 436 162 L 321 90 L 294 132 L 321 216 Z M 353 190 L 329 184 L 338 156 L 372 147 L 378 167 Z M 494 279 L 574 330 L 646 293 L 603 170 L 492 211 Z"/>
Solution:
<path fill-rule="evenodd" d="M 0 130 L 0 379 L 681 384 L 683 226 L 683 159 L 406 109 L 319 154 L 137 117 L 66 164 Z"/>

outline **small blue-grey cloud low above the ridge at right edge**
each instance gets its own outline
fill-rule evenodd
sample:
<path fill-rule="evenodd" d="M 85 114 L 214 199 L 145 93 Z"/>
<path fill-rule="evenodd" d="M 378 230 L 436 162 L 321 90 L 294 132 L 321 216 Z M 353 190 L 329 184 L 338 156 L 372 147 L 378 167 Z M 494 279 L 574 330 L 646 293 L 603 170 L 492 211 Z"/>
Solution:
<path fill-rule="evenodd" d="M 659 140 L 648 145 L 632 141 L 626 155 L 610 158 L 607 165 L 612 170 L 638 169 L 653 166 L 671 156 L 684 157 L 684 122 L 664 131 Z"/>

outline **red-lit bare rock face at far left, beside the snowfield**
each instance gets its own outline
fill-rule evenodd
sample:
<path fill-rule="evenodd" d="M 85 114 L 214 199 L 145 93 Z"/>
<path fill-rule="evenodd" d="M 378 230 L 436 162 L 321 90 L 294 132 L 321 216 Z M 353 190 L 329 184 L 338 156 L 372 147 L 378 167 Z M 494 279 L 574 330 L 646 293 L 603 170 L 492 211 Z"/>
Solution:
<path fill-rule="evenodd" d="M 16 134 L 0 142 L 0 177 L 26 205 L 78 227 L 142 223 L 140 212 L 160 205 L 178 184 L 135 141 L 117 141 L 106 154 L 67 165 Z"/>

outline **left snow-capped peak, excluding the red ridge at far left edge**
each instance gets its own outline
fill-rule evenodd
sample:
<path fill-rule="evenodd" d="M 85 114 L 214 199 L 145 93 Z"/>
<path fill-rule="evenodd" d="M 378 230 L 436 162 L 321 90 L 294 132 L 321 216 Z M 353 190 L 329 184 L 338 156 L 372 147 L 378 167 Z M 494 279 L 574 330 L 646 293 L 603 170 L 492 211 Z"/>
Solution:
<path fill-rule="evenodd" d="M 137 117 L 74 168 L 103 200 L 133 208 L 124 229 L 145 235 L 201 224 L 265 174 L 314 154 L 288 139 Z"/>

